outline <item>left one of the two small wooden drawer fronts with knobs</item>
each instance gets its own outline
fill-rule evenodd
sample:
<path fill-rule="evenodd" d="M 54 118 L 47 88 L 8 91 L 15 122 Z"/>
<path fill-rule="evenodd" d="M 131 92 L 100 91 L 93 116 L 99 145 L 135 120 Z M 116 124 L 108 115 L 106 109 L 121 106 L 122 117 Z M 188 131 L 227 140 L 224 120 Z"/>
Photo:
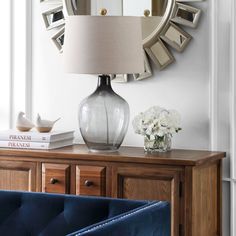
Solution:
<path fill-rule="evenodd" d="M 69 193 L 70 192 L 70 166 L 64 164 L 42 165 L 42 192 Z"/>

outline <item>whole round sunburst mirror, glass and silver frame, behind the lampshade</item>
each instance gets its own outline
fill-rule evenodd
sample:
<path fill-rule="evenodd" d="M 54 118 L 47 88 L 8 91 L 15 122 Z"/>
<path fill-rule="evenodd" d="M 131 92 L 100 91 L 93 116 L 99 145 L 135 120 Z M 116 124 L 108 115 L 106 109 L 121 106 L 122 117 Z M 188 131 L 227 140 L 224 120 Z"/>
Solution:
<path fill-rule="evenodd" d="M 63 51 L 65 15 L 141 16 L 143 30 L 143 54 L 145 71 L 134 74 L 135 80 L 152 76 L 149 60 L 158 70 L 163 70 L 175 61 L 171 48 L 183 52 L 191 41 L 181 26 L 196 28 L 201 10 L 190 6 L 191 2 L 203 0 L 40 0 L 48 6 L 42 12 L 47 30 L 55 30 L 52 40 Z M 58 4 L 55 4 L 57 2 Z M 188 2 L 188 3 L 187 3 Z M 116 82 L 127 82 L 128 75 L 115 75 Z"/>

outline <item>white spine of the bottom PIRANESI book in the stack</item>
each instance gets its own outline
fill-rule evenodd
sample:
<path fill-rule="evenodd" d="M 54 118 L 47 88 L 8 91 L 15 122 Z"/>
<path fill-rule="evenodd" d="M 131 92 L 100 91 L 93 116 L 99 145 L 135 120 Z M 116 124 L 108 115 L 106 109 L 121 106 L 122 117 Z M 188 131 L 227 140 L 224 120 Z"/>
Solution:
<path fill-rule="evenodd" d="M 49 149 L 49 143 L 0 141 L 0 147 L 16 149 Z"/>

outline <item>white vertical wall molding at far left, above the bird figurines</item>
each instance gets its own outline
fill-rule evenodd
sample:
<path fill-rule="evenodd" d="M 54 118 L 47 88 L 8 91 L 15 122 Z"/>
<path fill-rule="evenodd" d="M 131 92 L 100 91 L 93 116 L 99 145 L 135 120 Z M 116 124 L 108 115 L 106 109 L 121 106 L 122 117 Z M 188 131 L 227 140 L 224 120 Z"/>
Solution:
<path fill-rule="evenodd" d="M 19 111 L 32 117 L 32 0 L 11 1 L 9 128 Z"/>

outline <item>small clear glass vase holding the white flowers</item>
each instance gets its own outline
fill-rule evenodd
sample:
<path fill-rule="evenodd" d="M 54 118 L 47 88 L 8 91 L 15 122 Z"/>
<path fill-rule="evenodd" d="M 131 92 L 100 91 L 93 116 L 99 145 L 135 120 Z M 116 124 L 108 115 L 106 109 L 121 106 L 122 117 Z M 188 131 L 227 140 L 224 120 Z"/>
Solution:
<path fill-rule="evenodd" d="M 171 135 L 165 134 L 164 136 L 144 136 L 144 150 L 148 153 L 154 152 L 167 152 L 171 149 Z"/>

